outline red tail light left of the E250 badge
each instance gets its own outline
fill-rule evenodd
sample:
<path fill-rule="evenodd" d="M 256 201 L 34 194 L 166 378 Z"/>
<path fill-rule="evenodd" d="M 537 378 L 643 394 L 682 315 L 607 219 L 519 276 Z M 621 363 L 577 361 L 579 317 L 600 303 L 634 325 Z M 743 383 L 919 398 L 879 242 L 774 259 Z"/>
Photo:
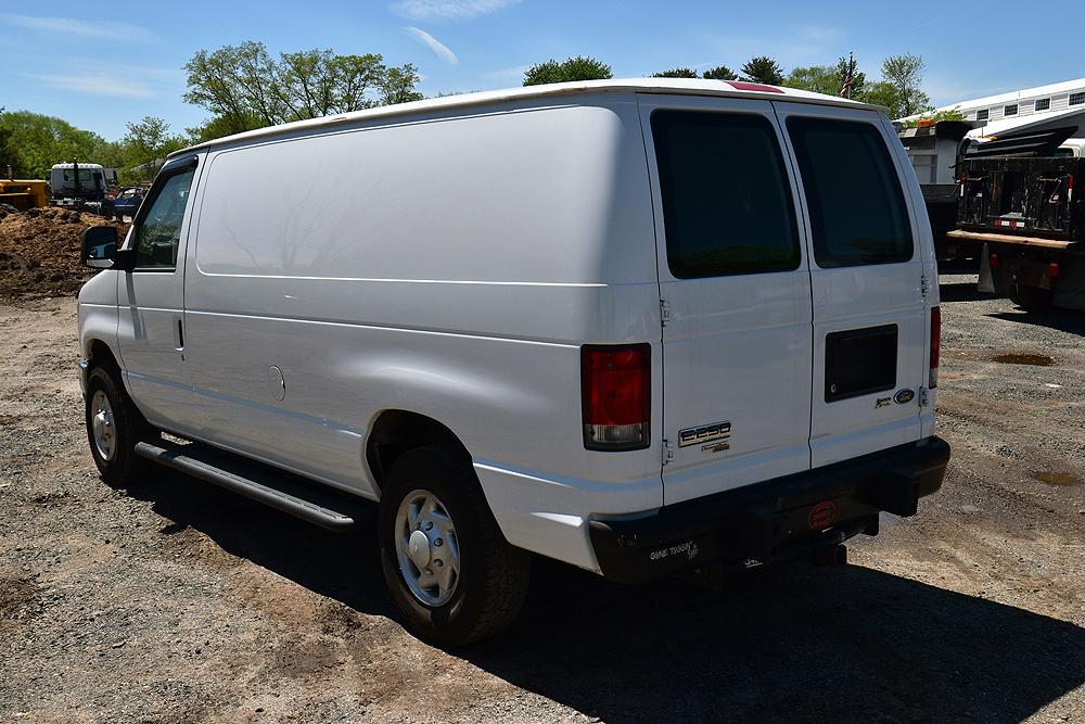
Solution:
<path fill-rule="evenodd" d="M 584 446 L 635 450 L 650 444 L 652 346 L 580 347 Z"/>

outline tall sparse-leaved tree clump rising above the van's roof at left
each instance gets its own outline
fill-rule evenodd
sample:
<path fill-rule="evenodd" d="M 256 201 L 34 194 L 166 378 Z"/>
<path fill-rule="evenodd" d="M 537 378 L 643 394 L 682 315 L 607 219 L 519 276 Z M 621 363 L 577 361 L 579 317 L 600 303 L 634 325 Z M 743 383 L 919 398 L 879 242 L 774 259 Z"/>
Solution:
<path fill-rule="evenodd" d="M 305 50 L 271 55 L 261 42 L 196 52 L 184 64 L 184 100 L 213 114 L 214 132 L 348 113 L 417 100 L 412 65 L 387 67 L 374 53 Z M 391 99 L 391 100 L 390 100 Z"/>

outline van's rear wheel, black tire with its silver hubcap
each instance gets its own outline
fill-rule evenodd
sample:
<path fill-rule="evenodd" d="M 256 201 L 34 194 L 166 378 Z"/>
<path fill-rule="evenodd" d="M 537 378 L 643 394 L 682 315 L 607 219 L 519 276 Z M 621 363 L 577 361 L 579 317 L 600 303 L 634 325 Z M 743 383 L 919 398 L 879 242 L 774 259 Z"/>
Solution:
<path fill-rule="evenodd" d="M 392 598 L 423 638 L 459 646 L 516 618 L 529 557 L 501 535 L 462 449 L 433 445 L 396 460 L 378 528 Z"/>

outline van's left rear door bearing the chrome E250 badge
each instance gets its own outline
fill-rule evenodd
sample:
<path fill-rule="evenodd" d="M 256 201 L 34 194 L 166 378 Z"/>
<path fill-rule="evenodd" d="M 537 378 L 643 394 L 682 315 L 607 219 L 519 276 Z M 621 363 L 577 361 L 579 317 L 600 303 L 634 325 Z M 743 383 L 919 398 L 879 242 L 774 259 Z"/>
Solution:
<path fill-rule="evenodd" d="M 664 304 L 664 503 L 808 470 L 810 285 L 773 106 L 638 99 Z"/>

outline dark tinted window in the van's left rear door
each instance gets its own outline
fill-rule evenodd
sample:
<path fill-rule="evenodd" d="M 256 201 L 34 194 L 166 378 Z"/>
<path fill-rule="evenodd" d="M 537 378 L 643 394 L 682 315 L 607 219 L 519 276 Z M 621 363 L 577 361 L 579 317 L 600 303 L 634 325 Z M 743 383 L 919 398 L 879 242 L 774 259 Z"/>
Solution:
<path fill-rule="evenodd" d="M 679 279 L 796 269 L 783 154 L 763 116 L 656 111 L 667 264 Z"/>

